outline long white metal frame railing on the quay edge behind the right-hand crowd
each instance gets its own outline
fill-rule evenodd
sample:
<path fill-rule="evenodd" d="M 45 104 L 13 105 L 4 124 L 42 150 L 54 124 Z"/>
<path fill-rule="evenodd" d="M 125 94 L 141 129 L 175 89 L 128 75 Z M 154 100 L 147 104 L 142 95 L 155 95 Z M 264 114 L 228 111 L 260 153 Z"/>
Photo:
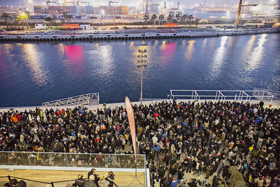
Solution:
<path fill-rule="evenodd" d="M 174 94 L 174 92 L 185 93 L 185 94 Z M 191 92 L 191 94 L 189 94 Z M 275 91 L 273 91 L 275 92 Z M 256 98 L 258 100 L 263 100 L 266 98 L 272 102 L 273 98 L 276 97 L 273 92 L 269 90 L 170 90 L 170 98 L 184 97 L 191 98 L 191 102 L 200 102 L 200 99 L 215 99 L 225 101 L 226 99 L 232 99 L 237 102 L 245 101 L 250 102 L 251 98 Z M 235 94 L 235 95 L 233 95 Z"/>

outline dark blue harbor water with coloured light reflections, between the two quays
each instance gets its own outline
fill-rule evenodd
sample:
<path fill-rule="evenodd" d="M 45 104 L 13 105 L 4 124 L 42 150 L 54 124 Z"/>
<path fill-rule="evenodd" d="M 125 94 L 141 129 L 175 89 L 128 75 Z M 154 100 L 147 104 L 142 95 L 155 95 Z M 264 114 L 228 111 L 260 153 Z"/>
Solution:
<path fill-rule="evenodd" d="M 96 92 L 100 103 L 138 101 L 138 49 L 147 50 L 143 98 L 166 98 L 170 89 L 279 91 L 279 41 L 279 34 L 262 34 L 0 43 L 0 107 Z"/>

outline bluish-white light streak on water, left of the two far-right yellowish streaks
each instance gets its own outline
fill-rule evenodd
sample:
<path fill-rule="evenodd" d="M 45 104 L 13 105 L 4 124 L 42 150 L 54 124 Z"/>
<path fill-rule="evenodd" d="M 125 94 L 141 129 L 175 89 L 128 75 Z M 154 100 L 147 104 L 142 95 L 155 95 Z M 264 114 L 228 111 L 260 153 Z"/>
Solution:
<path fill-rule="evenodd" d="M 228 36 L 222 36 L 220 46 L 215 50 L 210 64 L 209 79 L 215 79 L 221 74 L 222 65 L 225 63 L 226 56 L 226 41 Z"/>

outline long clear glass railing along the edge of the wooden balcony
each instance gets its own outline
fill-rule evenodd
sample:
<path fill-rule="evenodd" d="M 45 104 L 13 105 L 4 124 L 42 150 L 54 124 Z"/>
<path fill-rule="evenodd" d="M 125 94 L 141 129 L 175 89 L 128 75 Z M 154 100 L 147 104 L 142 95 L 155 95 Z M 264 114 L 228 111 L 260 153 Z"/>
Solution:
<path fill-rule="evenodd" d="M 0 165 L 138 168 L 146 169 L 145 155 L 0 151 Z"/>

